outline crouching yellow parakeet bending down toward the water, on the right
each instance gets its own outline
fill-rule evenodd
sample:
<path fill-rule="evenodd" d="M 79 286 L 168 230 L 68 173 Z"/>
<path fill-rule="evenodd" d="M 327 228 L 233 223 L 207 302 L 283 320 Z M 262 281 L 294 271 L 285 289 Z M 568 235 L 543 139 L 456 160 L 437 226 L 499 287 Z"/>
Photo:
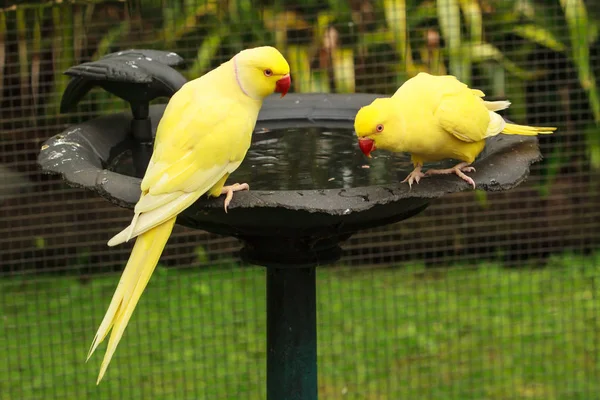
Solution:
<path fill-rule="evenodd" d="M 456 174 L 475 188 L 465 172 L 485 147 L 485 139 L 504 133 L 535 136 L 556 128 L 507 123 L 496 111 L 509 101 L 485 101 L 485 94 L 470 89 L 451 75 L 425 72 L 407 80 L 391 98 L 378 98 L 361 108 L 354 120 L 362 152 L 371 157 L 376 148 L 411 153 L 415 169 L 402 182 L 413 182 L 433 174 Z M 421 172 L 424 162 L 456 159 L 448 169 Z"/>

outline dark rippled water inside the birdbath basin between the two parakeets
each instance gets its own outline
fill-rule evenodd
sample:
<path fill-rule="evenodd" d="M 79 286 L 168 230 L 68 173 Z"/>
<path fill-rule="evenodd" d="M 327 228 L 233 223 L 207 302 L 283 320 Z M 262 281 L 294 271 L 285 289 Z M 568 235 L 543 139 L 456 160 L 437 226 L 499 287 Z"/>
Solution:
<path fill-rule="evenodd" d="M 134 175 L 127 147 L 121 147 L 122 152 L 115 149 L 107 169 Z M 406 154 L 377 151 L 366 158 L 351 129 L 257 130 L 244 162 L 228 182 L 248 182 L 253 190 L 339 189 L 397 183 L 412 168 Z"/>

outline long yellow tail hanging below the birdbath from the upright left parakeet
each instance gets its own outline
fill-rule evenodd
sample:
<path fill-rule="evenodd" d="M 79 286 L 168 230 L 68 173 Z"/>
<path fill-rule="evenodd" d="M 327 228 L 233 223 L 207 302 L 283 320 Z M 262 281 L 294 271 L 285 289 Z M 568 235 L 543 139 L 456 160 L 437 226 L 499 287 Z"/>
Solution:
<path fill-rule="evenodd" d="M 146 288 L 152 272 L 154 272 L 158 259 L 173 230 L 175 219 L 176 217 L 173 217 L 165 221 L 141 234 L 136 239 L 129 261 L 125 266 L 121 280 L 88 353 L 89 359 L 112 329 L 96 384 L 99 384 L 102 380 L 135 306 Z"/>

